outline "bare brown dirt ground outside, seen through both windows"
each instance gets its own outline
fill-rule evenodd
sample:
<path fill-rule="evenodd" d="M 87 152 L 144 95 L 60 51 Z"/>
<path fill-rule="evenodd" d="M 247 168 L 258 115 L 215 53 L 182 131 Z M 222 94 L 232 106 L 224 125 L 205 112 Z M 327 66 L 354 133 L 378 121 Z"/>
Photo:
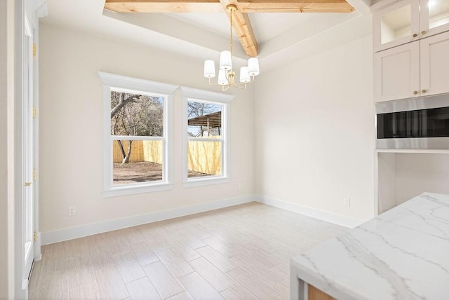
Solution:
<path fill-rule="evenodd" d="M 190 177 L 208 176 L 208 174 L 189 170 Z M 114 163 L 114 184 L 133 184 L 136 182 L 154 182 L 162 180 L 162 165 L 149 161 L 134 163 Z"/>

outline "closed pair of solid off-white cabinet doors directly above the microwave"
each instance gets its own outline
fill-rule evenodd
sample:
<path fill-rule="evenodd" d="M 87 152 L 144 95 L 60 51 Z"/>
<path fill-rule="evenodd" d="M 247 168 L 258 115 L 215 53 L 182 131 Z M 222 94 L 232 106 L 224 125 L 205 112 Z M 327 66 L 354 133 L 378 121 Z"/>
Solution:
<path fill-rule="evenodd" d="M 375 102 L 449 93 L 449 32 L 374 54 Z"/>

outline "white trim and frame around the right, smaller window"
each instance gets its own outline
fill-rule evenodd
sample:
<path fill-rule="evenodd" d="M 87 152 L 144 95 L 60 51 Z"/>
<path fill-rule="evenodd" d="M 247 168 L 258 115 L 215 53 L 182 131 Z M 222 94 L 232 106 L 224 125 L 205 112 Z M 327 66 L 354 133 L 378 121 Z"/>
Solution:
<path fill-rule="evenodd" d="M 229 168 L 229 149 L 230 149 L 230 132 L 229 123 L 231 120 L 231 101 L 234 95 L 210 92 L 208 90 L 198 90 L 195 88 L 180 87 L 182 91 L 182 187 L 189 188 L 193 186 L 203 186 L 208 184 L 224 184 L 231 182 L 231 170 Z M 222 126 L 222 175 L 208 177 L 187 177 L 187 102 L 189 100 L 196 102 L 208 102 L 212 104 L 223 105 L 222 118 L 226 118 L 225 126 Z"/>

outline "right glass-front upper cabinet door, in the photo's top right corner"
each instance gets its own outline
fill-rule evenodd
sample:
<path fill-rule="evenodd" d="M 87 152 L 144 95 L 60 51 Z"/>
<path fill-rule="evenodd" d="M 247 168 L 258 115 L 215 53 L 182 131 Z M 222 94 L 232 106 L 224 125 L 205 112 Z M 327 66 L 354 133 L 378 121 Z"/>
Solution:
<path fill-rule="evenodd" d="M 449 31 L 449 0 L 421 0 L 421 38 Z"/>

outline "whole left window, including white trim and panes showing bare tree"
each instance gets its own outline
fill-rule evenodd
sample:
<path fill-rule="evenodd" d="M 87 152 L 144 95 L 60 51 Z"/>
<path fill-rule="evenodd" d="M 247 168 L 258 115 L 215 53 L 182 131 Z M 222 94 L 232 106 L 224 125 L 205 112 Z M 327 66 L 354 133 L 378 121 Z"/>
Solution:
<path fill-rule="evenodd" d="M 169 116 L 177 86 L 99 74 L 104 102 L 103 196 L 172 189 Z"/>

